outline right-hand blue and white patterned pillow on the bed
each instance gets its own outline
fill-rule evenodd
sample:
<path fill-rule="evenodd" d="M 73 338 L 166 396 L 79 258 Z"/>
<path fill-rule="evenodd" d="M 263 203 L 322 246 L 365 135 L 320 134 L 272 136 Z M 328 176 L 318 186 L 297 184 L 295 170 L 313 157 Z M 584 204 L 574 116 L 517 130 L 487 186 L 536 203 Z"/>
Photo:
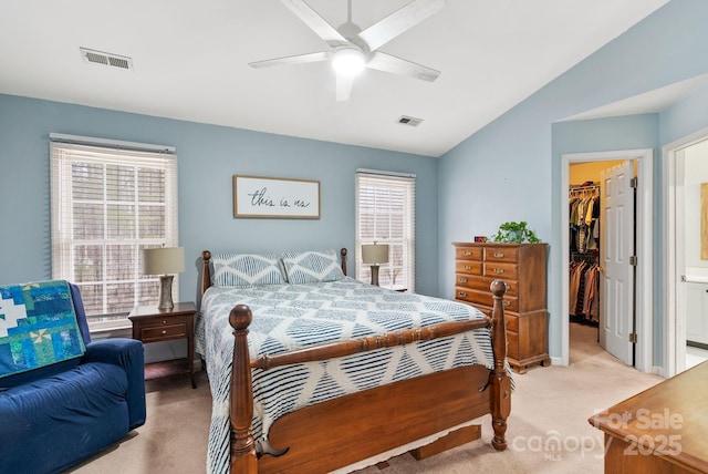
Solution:
<path fill-rule="evenodd" d="M 316 284 L 344 278 L 336 251 L 285 251 L 282 257 L 288 281 Z"/>

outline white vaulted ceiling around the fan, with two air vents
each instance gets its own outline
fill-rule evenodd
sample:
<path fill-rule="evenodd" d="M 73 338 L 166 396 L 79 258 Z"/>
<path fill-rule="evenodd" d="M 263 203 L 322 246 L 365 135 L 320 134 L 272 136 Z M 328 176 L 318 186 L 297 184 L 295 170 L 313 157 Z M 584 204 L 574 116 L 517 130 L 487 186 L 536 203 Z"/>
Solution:
<path fill-rule="evenodd" d="M 352 19 L 365 29 L 409 1 L 353 0 Z M 326 50 L 279 0 L 0 0 L 0 93 L 440 156 L 666 2 L 448 0 L 381 48 L 437 81 L 365 70 L 337 103 L 327 63 L 248 66 Z M 308 3 L 346 21 L 346 0 Z"/>

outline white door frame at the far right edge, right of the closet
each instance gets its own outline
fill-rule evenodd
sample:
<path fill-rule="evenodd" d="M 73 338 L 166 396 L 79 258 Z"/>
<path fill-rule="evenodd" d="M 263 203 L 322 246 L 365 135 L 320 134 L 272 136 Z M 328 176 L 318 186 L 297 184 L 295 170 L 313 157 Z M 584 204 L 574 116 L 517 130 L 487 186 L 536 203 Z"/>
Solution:
<path fill-rule="evenodd" d="M 676 154 L 679 150 L 708 138 L 708 128 L 702 128 L 688 136 L 679 138 L 662 147 L 662 171 L 663 193 L 664 193 L 664 311 L 666 317 L 663 321 L 664 329 L 664 377 L 676 375 L 686 361 L 686 315 L 680 311 L 683 301 L 677 298 L 678 285 L 676 272 L 677 255 L 676 246 L 679 239 L 676 236 L 676 203 L 683 198 L 676 193 Z M 683 361 L 683 363 L 679 363 Z"/>

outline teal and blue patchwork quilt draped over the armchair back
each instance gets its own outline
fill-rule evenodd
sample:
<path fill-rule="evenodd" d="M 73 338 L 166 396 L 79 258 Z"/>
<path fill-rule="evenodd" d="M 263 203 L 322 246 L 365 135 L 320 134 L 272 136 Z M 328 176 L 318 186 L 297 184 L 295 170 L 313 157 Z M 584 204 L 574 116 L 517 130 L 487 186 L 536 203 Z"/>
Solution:
<path fill-rule="evenodd" d="M 0 378 L 85 350 L 66 281 L 0 287 Z"/>

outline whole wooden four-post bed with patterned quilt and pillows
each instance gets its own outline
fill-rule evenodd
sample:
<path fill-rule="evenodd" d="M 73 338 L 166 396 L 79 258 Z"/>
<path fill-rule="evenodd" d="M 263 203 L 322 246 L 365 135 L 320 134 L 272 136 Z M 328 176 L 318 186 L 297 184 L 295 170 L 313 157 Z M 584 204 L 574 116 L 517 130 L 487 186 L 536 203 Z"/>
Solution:
<path fill-rule="evenodd" d="M 512 381 L 491 315 L 346 276 L 346 249 L 202 253 L 197 352 L 210 473 L 351 472 L 480 437 L 507 447 Z M 476 424 L 477 423 L 477 424 Z"/>

